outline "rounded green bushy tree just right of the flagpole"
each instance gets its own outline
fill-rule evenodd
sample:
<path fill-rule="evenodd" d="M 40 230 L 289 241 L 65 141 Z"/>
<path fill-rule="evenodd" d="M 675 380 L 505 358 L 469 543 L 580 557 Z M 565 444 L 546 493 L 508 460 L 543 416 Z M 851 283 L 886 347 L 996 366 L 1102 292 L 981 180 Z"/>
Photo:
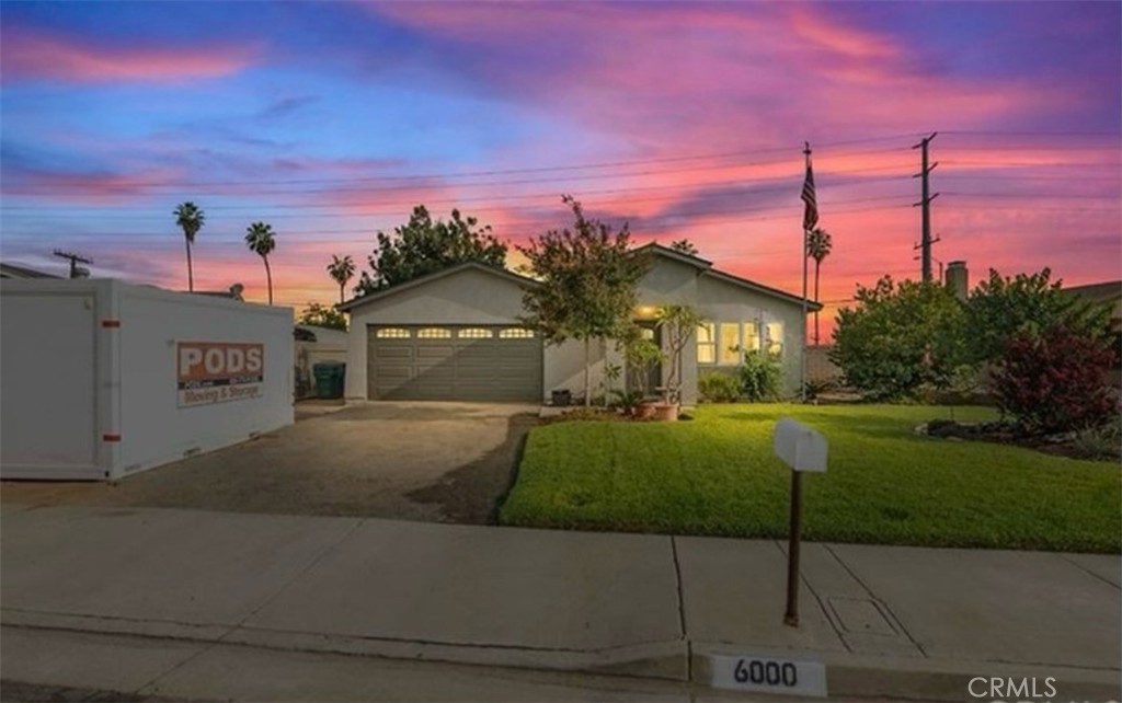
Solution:
<path fill-rule="evenodd" d="M 838 312 L 830 351 L 846 382 L 881 400 L 949 386 L 964 358 L 964 312 L 948 288 L 885 276 L 857 286 L 856 299 Z"/>

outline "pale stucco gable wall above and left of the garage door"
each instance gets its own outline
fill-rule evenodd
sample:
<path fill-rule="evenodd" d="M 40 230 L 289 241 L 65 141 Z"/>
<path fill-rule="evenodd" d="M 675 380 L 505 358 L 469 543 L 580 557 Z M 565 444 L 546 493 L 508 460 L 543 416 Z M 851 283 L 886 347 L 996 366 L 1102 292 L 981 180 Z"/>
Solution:
<path fill-rule="evenodd" d="M 523 288 L 475 268 L 401 290 L 351 311 L 347 397 L 366 398 L 367 325 L 519 324 Z"/>

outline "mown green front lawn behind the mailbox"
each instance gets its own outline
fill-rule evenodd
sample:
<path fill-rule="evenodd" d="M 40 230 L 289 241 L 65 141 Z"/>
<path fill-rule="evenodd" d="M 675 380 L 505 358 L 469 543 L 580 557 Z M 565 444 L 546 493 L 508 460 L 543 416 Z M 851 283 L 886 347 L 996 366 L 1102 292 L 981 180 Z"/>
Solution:
<path fill-rule="evenodd" d="M 955 408 L 955 419 L 988 419 Z M 782 416 L 829 441 L 803 479 L 803 536 L 872 544 L 1116 553 L 1116 463 L 914 435 L 946 407 L 701 406 L 691 422 L 534 428 L 504 525 L 784 537 L 790 472 L 772 453 Z"/>

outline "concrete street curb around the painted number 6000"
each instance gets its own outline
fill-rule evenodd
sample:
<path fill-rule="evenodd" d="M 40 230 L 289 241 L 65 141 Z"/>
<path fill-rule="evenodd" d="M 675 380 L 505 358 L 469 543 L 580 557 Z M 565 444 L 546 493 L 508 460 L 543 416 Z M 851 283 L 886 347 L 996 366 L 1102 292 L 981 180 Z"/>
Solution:
<path fill-rule="evenodd" d="M 378 657 L 411 662 L 441 662 L 475 666 L 585 673 L 632 678 L 692 683 L 714 693 L 710 656 L 743 655 L 727 644 L 671 640 L 626 645 L 595 651 L 535 649 L 487 644 L 413 641 L 351 637 L 219 625 L 129 620 L 3 610 L 3 627 L 63 630 L 92 635 L 127 635 L 153 639 L 222 642 L 280 651 L 309 651 L 342 656 Z M 1042 688 L 1051 677 L 1054 701 L 1120 701 L 1120 669 L 1082 668 L 1049 664 L 962 662 L 923 657 L 867 656 L 813 650 L 753 650 L 757 656 L 801 658 L 826 667 L 831 699 L 889 699 L 922 701 L 990 701 L 975 696 L 975 678 L 1020 682 L 1036 679 Z M 975 682 L 982 692 L 984 684 Z"/>

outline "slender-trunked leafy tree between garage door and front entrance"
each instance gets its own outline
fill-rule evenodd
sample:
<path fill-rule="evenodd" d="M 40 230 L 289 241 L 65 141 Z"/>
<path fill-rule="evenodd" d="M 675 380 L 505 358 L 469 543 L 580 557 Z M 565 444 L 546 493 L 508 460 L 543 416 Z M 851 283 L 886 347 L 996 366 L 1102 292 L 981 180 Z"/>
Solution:
<path fill-rule="evenodd" d="M 633 324 L 638 281 L 647 261 L 631 250 L 626 224 L 618 232 L 589 220 L 571 195 L 562 202 L 572 210 L 573 228 L 550 230 L 518 247 L 541 286 L 526 293 L 527 324 L 552 344 L 568 339 L 585 343 L 585 405 L 591 404 L 591 341 L 625 339 Z"/>

